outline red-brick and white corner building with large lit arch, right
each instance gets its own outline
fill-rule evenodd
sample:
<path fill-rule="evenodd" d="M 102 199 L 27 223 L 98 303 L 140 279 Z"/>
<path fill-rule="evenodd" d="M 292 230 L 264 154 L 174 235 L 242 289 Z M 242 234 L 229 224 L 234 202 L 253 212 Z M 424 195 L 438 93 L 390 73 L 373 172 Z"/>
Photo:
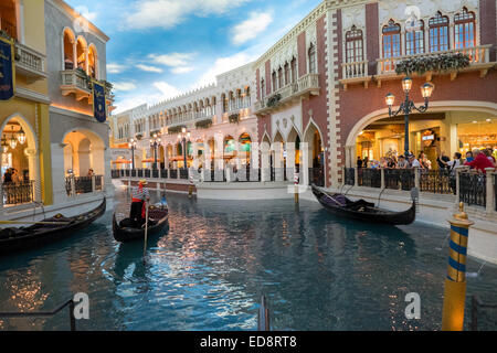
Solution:
<path fill-rule="evenodd" d="M 357 157 L 403 153 L 403 117 L 389 118 L 384 97 L 394 94 L 398 107 L 410 75 L 417 106 L 417 87 L 435 87 L 427 114 L 411 116 L 412 152 L 436 167 L 442 152 L 495 149 L 495 1 L 324 1 L 255 63 L 258 137 L 293 151 L 298 136 L 309 179 L 322 173 L 327 186 L 340 185 Z M 454 63 L 456 53 L 469 64 Z"/>

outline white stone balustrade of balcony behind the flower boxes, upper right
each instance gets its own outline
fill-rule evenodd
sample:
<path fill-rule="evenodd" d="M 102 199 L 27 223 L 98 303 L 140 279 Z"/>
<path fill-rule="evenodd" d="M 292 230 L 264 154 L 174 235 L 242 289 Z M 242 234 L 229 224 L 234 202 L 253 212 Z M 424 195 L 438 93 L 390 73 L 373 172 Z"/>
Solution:
<path fill-rule="evenodd" d="M 436 56 L 440 54 L 455 54 L 462 53 L 464 55 L 469 56 L 469 65 L 475 66 L 477 64 L 488 64 L 490 62 L 490 49 L 489 45 L 479 45 L 472 46 L 465 49 L 454 49 L 442 52 L 432 52 L 432 53 L 423 53 L 423 54 L 414 54 L 414 55 L 404 55 L 398 57 L 385 57 L 379 58 L 378 62 L 378 75 L 392 75 L 395 74 L 396 64 L 403 60 L 415 58 L 415 57 L 427 57 L 427 56 Z"/>

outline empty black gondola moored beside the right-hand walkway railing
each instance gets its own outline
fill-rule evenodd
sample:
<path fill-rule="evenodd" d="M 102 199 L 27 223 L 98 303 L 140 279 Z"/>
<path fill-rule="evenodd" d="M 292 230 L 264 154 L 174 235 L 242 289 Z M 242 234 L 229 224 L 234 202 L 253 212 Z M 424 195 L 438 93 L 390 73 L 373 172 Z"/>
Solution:
<path fill-rule="evenodd" d="M 376 207 L 373 203 L 364 200 L 351 201 L 342 194 L 330 194 L 316 185 L 311 185 L 311 188 L 319 203 L 326 210 L 339 216 L 389 225 L 409 225 L 416 218 L 416 202 L 414 197 L 412 206 L 408 211 L 392 212 Z"/>

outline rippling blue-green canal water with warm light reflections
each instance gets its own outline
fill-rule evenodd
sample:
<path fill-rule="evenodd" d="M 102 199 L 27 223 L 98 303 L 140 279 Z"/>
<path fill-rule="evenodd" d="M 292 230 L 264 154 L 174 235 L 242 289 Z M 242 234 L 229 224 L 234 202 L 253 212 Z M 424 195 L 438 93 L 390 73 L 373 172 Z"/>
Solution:
<path fill-rule="evenodd" d="M 158 195 L 155 195 L 158 200 Z M 126 212 L 127 193 L 117 191 Z M 255 330 L 265 295 L 276 330 L 440 330 L 447 231 L 372 226 L 302 201 L 197 201 L 168 194 L 170 226 L 142 244 L 112 236 L 112 215 L 42 249 L 0 258 L 0 311 L 46 311 L 86 292 L 78 330 Z M 441 222 L 445 222 L 441 220 Z M 469 296 L 497 302 L 497 269 L 469 260 Z M 405 319 L 405 296 L 421 319 Z M 497 312 L 480 317 L 497 329 Z M 466 312 L 466 325 L 469 311 Z M 0 330 L 67 330 L 0 319 Z"/>

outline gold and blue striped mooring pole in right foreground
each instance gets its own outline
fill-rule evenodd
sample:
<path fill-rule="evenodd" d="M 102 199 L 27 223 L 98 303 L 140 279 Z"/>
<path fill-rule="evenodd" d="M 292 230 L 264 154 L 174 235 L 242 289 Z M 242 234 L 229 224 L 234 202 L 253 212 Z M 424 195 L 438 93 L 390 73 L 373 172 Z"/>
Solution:
<path fill-rule="evenodd" d="M 442 331 L 463 331 L 466 303 L 466 257 L 469 227 L 475 224 L 467 218 L 464 203 L 459 213 L 448 220 L 451 240 L 448 246 L 447 278 L 445 278 Z"/>

